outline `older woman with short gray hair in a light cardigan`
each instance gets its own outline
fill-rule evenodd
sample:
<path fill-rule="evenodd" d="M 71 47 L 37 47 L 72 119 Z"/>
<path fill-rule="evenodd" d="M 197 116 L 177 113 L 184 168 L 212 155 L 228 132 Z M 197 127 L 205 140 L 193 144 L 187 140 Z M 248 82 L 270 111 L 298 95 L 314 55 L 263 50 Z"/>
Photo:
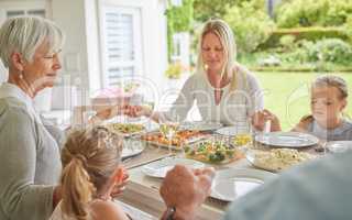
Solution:
<path fill-rule="evenodd" d="M 59 146 L 35 112 L 35 95 L 54 85 L 63 32 L 23 16 L 0 29 L 0 57 L 9 79 L 0 86 L 0 219 L 48 219 L 61 199 Z"/>

